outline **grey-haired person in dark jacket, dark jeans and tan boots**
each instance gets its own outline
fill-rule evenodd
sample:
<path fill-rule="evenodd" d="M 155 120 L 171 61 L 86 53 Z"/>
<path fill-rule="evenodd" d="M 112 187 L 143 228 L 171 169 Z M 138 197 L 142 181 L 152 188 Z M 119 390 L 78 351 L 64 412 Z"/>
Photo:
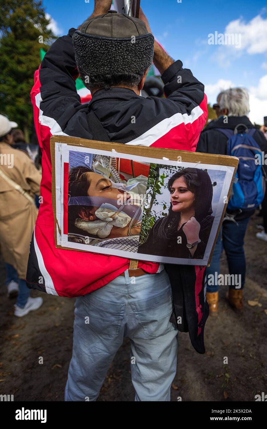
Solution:
<path fill-rule="evenodd" d="M 229 88 L 221 91 L 213 108 L 218 118 L 211 121 L 202 131 L 196 151 L 228 155 L 228 139 L 234 135 L 234 132 L 240 133 L 242 132 L 241 130 L 245 130 L 254 139 L 254 146 L 258 146 L 259 151 L 267 153 L 267 142 L 264 134 L 248 118 L 250 110 L 249 93 L 246 88 Z M 240 126 L 240 124 L 242 125 Z M 264 168 L 267 170 L 267 166 L 264 166 Z M 220 272 L 220 254 L 223 244 L 230 275 L 241 275 L 241 287 L 237 288 L 235 284 L 231 284 L 227 295 L 230 305 L 237 309 L 243 307 L 242 294 L 246 276 L 246 259 L 243 248 L 244 236 L 255 208 L 230 210 L 228 205 L 223 227 L 214 248 L 211 266 L 207 268 L 207 278 L 209 275 L 214 276 L 209 278 L 215 278 L 215 273 Z M 215 284 L 207 284 L 207 301 L 210 306 L 210 314 L 217 315 L 218 286 Z"/>

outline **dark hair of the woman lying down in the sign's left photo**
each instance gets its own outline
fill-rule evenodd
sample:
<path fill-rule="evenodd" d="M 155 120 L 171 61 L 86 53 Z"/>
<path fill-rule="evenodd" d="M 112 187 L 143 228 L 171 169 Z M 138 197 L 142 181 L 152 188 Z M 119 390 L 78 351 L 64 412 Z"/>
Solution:
<path fill-rule="evenodd" d="M 90 184 L 85 173 L 92 173 L 93 170 L 89 167 L 77 166 L 70 169 L 68 173 L 68 196 L 87 196 L 87 190 Z M 73 223 L 79 217 L 81 210 L 88 209 L 83 205 L 68 206 L 68 222 Z"/>

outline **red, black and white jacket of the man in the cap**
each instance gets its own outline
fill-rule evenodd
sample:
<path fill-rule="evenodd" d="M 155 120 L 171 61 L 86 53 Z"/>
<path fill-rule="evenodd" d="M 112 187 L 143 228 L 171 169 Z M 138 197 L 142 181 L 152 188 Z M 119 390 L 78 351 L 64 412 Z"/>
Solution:
<path fill-rule="evenodd" d="M 128 269 L 129 260 L 55 247 L 50 137 L 92 139 L 87 115 L 93 109 L 112 142 L 195 151 L 208 115 L 204 85 L 189 69 L 183 69 L 179 60 L 163 73 L 166 99 L 143 98 L 130 89 L 111 88 L 97 91 L 89 104 L 81 104 L 75 88 L 78 72 L 71 39 L 74 31 L 72 28 L 50 47 L 35 72 L 31 91 L 36 133 L 42 149 L 43 202 L 30 246 L 27 285 L 68 297 L 85 295 L 109 283 Z M 135 121 L 131 120 L 133 116 Z M 149 273 L 159 269 L 158 263 L 145 261 L 139 261 L 138 266 Z M 183 266 L 175 267 L 178 271 L 183 269 Z M 189 268 L 193 290 L 197 290 L 196 284 L 203 284 L 204 290 L 205 269 Z M 199 303 L 199 286 L 195 305 L 198 326 L 194 329 L 195 336 L 199 337 L 203 331 L 204 308 L 204 301 Z M 184 323 L 186 330 L 186 320 Z M 181 330 L 181 326 L 178 328 Z"/>

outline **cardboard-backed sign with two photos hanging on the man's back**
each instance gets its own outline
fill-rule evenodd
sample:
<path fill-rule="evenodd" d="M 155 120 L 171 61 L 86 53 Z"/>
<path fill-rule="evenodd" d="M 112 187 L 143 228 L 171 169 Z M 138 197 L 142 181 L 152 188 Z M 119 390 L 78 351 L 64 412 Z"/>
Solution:
<path fill-rule="evenodd" d="M 238 159 L 53 136 L 57 248 L 209 265 Z"/>

